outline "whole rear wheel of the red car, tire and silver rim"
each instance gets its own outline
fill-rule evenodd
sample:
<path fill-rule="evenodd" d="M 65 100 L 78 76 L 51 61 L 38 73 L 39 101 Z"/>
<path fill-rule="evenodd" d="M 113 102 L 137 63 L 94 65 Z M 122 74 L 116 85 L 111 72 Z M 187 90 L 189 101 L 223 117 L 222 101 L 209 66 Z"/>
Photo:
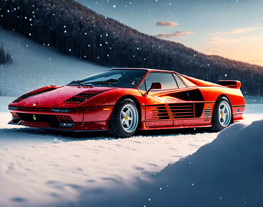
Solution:
<path fill-rule="evenodd" d="M 215 102 L 211 129 L 214 131 L 223 130 L 230 125 L 231 118 L 232 111 L 228 99 L 226 97 L 220 97 Z"/>

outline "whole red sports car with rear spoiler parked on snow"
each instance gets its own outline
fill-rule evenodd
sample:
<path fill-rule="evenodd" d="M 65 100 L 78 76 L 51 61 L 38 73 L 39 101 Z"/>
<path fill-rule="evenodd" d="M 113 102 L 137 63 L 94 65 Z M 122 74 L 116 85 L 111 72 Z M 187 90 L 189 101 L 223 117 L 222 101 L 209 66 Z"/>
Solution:
<path fill-rule="evenodd" d="M 61 131 L 108 131 L 129 137 L 136 130 L 210 127 L 220 131 L 243 119 L 240 81 L 213 84 L 173 71 L 114 68 L 45 86 L 9 104 L 10 124 Z"/>

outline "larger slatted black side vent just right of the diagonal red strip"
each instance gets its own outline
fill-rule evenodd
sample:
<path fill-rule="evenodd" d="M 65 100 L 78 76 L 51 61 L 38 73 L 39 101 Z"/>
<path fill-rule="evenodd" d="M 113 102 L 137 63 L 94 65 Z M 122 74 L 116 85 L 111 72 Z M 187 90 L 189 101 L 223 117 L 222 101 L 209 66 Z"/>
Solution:
<path fill-rule="evenodd" d="M 168 104 L 173 118 L 194 118 L 193 103 Z"/>

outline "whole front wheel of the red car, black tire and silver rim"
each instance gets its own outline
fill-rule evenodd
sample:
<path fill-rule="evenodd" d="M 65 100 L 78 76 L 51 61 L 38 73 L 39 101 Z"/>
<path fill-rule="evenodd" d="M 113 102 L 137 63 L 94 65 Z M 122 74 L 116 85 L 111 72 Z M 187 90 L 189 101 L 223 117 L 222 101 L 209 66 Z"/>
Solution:
<path fill-rule="evenodd" d="M 131 99 L 117 102 L 108 124 L 108 135 L 126 138 L 134 134 L 138 128 L 139 113 L 136 104 Z"/>

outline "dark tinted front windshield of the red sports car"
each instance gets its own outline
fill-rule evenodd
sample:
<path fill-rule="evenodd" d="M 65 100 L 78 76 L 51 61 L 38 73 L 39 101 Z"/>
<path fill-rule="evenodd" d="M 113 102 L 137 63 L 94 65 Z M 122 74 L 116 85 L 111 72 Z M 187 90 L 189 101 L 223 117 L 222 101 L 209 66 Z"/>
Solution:
<path fill-rule="evenodd" d="M 146 70 L 109 70 L 78 81 L 72 81 L 69 86 L 107 86 L 135 88 L 146 74 Z"/>

